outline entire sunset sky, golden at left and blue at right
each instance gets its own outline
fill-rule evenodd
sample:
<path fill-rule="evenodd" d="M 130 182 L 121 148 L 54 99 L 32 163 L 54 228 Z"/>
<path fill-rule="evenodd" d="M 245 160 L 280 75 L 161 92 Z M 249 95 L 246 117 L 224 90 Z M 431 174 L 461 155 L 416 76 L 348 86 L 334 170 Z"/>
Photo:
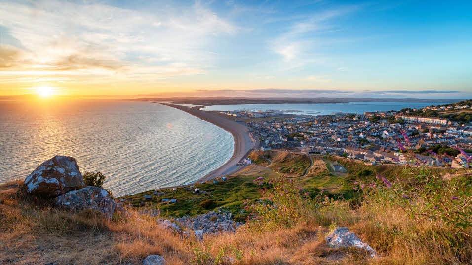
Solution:
<path fill-rule="evenodd" d="M 472 1 L 3 1 L 0 95 L 472 98 Z"/>

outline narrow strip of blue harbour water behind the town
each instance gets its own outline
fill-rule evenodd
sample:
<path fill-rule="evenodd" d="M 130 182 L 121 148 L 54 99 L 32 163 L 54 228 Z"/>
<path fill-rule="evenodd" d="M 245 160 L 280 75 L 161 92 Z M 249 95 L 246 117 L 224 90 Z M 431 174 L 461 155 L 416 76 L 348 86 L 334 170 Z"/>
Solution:
<path fill-rule="evenodd" d="M 451 101 L 453 103 L 457 101 Z M 297 114 L 330 115 L 337 112 L 364 114 L 364 111 L 400 110 L 403 108 L 423 108 L 445 103 L 399 103 L 399 102 L 353 102 L 345 104 L 246 104 L 246 105 L 214 105 L 202 110 L 296 110 Z M 291 113 L 291 112 L 286 112 Z"/>

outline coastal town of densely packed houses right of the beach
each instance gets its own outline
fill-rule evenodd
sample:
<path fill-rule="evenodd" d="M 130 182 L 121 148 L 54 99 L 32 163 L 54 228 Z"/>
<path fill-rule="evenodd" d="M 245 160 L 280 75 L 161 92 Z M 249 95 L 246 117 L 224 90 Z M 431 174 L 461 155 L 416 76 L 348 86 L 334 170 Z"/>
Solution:
<path fill-rule="evenodd" d="M 470 111 L 472 108 L 463 105 L 427 109 Z M 322 116 L 287 115 L 284 110 L 226 111 L 221 114 L 247 121 L 253 135 L 259 138 L 262 151 L 285 150 L 342 156 L 373 165 L 403 165 L 407 163 L 404 153 L 410 149 L 428 165 L 455 168 L 468 167 L 467 157 L 472 155 L 471 122 L 414 116 L 405 111 Z M 465 154 L 459 149 L 465 150 Z"/>

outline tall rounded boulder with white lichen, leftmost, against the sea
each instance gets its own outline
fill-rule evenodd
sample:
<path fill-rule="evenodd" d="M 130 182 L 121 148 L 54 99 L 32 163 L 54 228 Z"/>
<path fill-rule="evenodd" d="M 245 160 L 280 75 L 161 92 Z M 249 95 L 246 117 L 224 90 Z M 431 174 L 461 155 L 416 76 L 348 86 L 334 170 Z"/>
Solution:
<path fill-rule="evenodd" d="M 47 197 L 85 187 L 76 160 L 65 156 L 44 161 L 25 179 L 25 185 L 28 192 Z"/>

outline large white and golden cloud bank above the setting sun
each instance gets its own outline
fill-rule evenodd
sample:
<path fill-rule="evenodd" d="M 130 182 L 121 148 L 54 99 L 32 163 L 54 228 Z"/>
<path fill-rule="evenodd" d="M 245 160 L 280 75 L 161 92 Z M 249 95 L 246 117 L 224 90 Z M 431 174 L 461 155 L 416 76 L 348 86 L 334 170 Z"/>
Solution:
<path fill-rule="evenodd" d="M 0 82 L 25 75 L 107 82 L 202 74 L 216 61 L 207 51 L 212 39 L 238 30 L 198 1 L 156 10 L 101 1 L 2 2 L 1 26 L 22 48 L 0 47 Z"/>

